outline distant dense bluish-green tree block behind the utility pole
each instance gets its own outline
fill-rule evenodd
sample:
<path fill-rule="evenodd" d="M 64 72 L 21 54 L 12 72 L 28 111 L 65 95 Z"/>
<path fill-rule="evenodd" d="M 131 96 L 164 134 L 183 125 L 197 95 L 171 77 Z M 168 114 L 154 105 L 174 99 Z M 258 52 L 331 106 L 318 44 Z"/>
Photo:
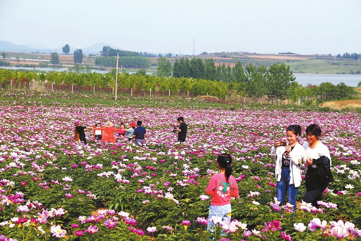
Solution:
<path fill-rule="evenodd" d="M 116 67 L 117 58 L 114 57 L 96 57 L 94 60 L 95 65 L 104 67 Z M 120 57 L 118 67 L 123 66 L 126 68 L 149 68 L 151 67 L 151 59 L 140 56 L 136 57 Z"/>

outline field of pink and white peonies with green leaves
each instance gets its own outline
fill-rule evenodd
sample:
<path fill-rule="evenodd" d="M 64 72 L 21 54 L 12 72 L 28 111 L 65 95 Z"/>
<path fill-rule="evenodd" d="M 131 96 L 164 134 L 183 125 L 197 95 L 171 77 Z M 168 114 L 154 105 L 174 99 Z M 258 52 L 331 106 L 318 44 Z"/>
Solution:
<path fill-rule="evenodd" d="M 361 113 L 188 98 L 105 104 L 109 98 L 0 92 L 0 241 L 360 238 Z M 172 132 L 179 116 L 188 124 L 185 144 Z M 119 127 L 135 117 L 147 130 L 144 147 L 123 136 L 93 141 L 92 131 L 87 145 L 73 141 L 74 119 Z M 318 209 L 302 201 L 301 182 L 293 212 L 274 199 L 270 148 L 290 124 L 303 128 L 303 144 L 312 123 L 322 128 L 335 181 Z M 231 200 L 233 221 L 209 233 L 205 189 L 222 152 L 233 157 L 239 198 Z"/>

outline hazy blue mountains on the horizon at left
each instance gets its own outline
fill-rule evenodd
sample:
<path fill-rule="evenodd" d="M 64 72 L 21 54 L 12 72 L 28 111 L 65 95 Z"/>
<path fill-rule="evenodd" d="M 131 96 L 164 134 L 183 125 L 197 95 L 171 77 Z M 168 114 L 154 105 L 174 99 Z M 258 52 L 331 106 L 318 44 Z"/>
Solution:
<path fill-rule="evenodd" d="M 57 52 L 58 54 L 62 54 L 62 48 L 63 46 L 49 49 L 49 48 L 37 48 L 36 45 L 30 44 L 31 47 L 26 45 L 14 45 L 13 43 L 10 43 L 8 41 L 0 41 L 0 51 L 5 52 L 36 52 L 39 51 L 40 53 L 51 53 L 51 52 Z M 103 46 L 109 46 L 111 48 L 125 50 L 123 48 L 116 47 L 114 45 L 109 45 L 108 43 L 96 43 L 95 45 L 91 45 L 88 47 L 81 48 L 83 50 L 83 54 L 99 54 L 100 51 L 103 50 Z M 79 48 L 79 47 L 78 47 Z M 70 52 L 69 54 L 72 54 L 77 48 L 70 46 Z"/>

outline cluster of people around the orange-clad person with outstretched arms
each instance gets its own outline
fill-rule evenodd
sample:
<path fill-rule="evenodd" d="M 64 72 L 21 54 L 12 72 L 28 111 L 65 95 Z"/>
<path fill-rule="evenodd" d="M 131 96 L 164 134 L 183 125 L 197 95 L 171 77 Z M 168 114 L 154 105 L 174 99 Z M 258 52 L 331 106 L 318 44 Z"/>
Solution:
<path fill-rule="evenodd" d="M 129 123 L 129 128 L 125 128 L 125 124 L 121 123 L 119 128 L 115 128 L 113 123 L 107 121 L 105 126 L 101 126 L 101 122 L 95 122 L 95 126 L 81 126 L 80 120 L 74 121 L 74 141 L 87 144 L 85 129 L 93 130 L 93 139 L 103 142 L 116 143 L 115 133 L 119 136 L 128 138 L 128 141 L 134 141 L 136 145 L 143 145 L 144 138 L 146 136 L 145 128 L 142 126 L 142 121 L 138 120 L 136 124 L 134 122 Z"/>

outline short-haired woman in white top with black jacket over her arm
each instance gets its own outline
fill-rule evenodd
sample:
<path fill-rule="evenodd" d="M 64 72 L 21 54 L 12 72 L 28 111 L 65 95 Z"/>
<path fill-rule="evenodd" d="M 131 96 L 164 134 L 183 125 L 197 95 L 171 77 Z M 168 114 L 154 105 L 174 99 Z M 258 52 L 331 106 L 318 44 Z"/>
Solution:
<path fill-rule="evenodd" d="M 317 124 L 311 124 L 306 128 L 307 141 L 304 160 L 306 171 L 306 193 L 304 202 L 319 207 L 317 201 L 322 200 L 322 193 L 326 190 L 329 182 L 333 181 L 330 172 L 331 156 L 329 148 L 322 144 L 318 138 L 321 136 L 321 128 Z"/>

